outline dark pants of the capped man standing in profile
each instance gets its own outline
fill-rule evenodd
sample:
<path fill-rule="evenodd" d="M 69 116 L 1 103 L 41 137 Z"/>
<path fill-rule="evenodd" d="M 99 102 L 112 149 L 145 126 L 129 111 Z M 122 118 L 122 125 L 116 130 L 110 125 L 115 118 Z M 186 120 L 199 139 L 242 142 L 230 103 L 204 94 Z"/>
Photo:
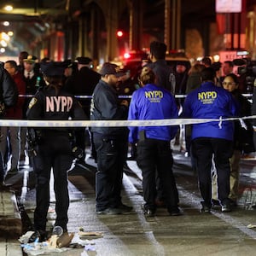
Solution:
<path fill-rule="evenodd" d="M 126 137 L 125 137 L 126 138 Z M 105 139 L 94 133 L 97 153 L 96 211 L 119 207 L 127 141 Z"/>

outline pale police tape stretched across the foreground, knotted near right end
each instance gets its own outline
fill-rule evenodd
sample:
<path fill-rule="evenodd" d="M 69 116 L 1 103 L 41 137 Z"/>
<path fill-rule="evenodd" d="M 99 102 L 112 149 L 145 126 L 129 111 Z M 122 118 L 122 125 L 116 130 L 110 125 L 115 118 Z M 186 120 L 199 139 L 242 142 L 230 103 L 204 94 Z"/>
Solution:
<path fill-rule="evenodd" d="M 124 126 L 172 126 L 218 122 L 221 129 L 224 121 L 256 119 L 256 115 L 243 118 L 223 119 L 150 119 L 150 120 L 21 120 L 0 119 L 0 126 L 12 127 L 124 127 Z M 243 122 L 244 123 L 244 122 Z"/>

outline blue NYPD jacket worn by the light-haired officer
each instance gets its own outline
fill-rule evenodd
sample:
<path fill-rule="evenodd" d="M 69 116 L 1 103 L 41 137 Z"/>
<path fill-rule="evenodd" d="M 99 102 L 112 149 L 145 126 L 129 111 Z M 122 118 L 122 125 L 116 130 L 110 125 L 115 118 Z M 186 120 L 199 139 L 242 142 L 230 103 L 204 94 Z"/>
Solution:
<path fill-rule="evenodd" d="M 146 84 L 132 94 L 128 119 L 177 119 L 175 99 L 169 91 Z M 171 141 L 177 133 L 177 125 L 129 127 L 129 130 L 130 143 L 137 143 L 139 131 L 145 131 L 147 138 Z"/>

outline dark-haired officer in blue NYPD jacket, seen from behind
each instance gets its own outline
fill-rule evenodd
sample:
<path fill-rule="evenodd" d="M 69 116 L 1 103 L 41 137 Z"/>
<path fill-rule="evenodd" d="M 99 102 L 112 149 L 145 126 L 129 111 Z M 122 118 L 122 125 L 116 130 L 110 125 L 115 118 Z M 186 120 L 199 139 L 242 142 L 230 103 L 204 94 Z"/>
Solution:
<path fill-rule="evenodd" d="M 215 85 L 212 67 L 201 72 L 201 86 L 187 96 L 184 116 L 194 119 L 223 119 L 236 116 L 236 102 L 229 91 Z M 212 156 L 218 175 L 218 200 L 222 212 L 230 212 L 230 157 L 233 151 L 234 125 L 231 121 L 205 122 L 192 126 L 192 154 L 195 156 L 199 189 L 203 201 L 201 212 L 212 207 Z"/>

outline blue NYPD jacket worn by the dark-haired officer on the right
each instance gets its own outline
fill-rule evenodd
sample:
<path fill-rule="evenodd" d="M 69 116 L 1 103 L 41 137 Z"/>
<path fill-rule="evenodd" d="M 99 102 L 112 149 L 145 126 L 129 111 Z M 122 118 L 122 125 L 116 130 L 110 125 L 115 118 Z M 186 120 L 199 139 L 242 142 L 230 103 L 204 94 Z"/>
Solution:
<path fill-rule="evenodd" d="M 212 82 L 205 82 L 186 97 L 183 116 L 193 119 L 225 119 L 237 115 L 236 106 L 229 91 Z M 192 140 L 198 137 L 215 137 L 232 141 L 234 137 L 232 121 L 223 121 L 222 124 L 207 122 L 192 127 Z"/>

